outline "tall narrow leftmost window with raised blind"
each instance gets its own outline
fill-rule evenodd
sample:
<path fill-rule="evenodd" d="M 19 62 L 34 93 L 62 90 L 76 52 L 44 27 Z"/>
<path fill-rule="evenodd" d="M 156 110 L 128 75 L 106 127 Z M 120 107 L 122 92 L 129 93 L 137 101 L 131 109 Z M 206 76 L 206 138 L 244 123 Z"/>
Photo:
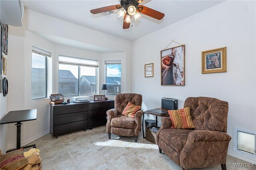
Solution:
<path fill-rule="evenodd" d="M 31 99 L 46 98 L 46 62 L 51 53 L 32 47 Z"/>

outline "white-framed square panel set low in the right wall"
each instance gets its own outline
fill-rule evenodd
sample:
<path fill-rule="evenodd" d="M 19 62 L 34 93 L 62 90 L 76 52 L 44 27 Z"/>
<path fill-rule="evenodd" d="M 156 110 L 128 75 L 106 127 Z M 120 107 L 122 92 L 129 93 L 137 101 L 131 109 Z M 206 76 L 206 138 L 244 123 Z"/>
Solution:
<path fill-rule="evenodd" d="M 234 127 L 233 151 L 244 156 L 256 158 L 256 132 Z"/>

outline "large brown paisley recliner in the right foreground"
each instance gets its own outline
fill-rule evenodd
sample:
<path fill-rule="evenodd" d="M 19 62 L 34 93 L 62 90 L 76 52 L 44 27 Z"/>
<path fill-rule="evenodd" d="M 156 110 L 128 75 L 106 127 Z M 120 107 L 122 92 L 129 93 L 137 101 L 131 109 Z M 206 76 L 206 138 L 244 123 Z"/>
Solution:
<path fill-rule="evenodd" d="M 170 117 L 162 118 L 156 134 L 159 152 L 164 153 L 182 169 L 205 168 L 221 164 L 226 170 L 228 143 L 228 102 L 210 97 L 188 97 L 184 108 L 190 107 L 194 129 L 170 128 Z"/>

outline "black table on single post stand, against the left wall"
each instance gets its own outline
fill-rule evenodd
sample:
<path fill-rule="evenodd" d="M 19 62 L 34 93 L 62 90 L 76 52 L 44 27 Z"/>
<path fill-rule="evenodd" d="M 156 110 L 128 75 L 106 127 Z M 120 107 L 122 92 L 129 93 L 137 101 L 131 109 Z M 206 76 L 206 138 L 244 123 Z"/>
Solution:
<path fill-rule="evenodd" d="M 8 150 L 6 152 L 10 152 L 12 150 L 16 150 L 20 148 L 30 148 L 30 147 L 36 148 L 36 144 L 20 147 L 20 127 L 22 125 L 21 122 L 36 120 L 36 111 L 37 111 L 36 109 L 10 111 L 0 121 L 0 125 L 8 124 L 8 123 L 16 123 L 15 125 L 17 126 L 16 148 Z"/>

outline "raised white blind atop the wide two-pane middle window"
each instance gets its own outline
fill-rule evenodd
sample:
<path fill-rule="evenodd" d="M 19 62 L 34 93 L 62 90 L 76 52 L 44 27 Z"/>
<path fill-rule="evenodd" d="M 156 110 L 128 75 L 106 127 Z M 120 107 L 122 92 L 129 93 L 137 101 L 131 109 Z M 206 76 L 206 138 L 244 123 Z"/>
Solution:
<path fill-rule="evenodd" d="M 69 64 L 69 65 L 83 65 L 83 66 L 91 66 L 91 67 L 98 67 L 99 65 L 98 60 L 70 57 L 65 55 L 59 55 L 59 63 Z"/>

